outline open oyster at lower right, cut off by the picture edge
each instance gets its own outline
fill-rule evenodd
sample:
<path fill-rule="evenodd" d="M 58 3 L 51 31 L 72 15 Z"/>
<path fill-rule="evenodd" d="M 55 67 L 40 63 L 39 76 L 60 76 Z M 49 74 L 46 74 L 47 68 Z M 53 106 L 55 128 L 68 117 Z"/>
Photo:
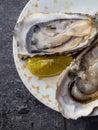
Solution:
<path fill-rule="evenodd" d="M 56 99 L 66 118 L 89 115 L 98 106 L 98 39 L 60 75 Z"/>

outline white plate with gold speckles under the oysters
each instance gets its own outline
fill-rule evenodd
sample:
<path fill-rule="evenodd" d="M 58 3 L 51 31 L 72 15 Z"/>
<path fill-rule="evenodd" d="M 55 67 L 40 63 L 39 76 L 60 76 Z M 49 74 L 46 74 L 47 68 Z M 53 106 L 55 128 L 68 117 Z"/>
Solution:
<path fill-rule="evenodd" d="M 98 11 L 98 0 L 30 0 L 22 11 L 18 22 L 32 12 L 75 12 L 94 14 Z M 25 62 L 17 57 L 17 44 L 13 37 L 13 54 L 17 71 L 26 88 L 39 101 L 46 106 L 58 111 L 55 100 L 56 81 L 58 76 L 39 79 L 32 75 Z"/>

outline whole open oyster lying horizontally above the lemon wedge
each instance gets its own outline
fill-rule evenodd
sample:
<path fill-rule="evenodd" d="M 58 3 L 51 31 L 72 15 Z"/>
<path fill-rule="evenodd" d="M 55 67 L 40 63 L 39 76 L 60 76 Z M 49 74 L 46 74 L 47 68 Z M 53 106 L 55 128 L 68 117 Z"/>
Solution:
<path fill-rule="evenodd" d="M 84 14 L 33 13 L 15 26 L 20 56 L 72 54 L 90 45 L 97 33 Z"/>

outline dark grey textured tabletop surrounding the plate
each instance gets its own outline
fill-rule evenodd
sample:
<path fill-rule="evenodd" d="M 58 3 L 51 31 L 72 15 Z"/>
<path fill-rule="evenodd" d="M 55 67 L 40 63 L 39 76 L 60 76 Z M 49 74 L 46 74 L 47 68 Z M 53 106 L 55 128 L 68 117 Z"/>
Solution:
<path fill-rule="evenodd" d="M 98 130 L 98 118 L 66 120 L 36 100 L 12 56 L 13 28 L 28 0 L 0 0 L 0 130 Z"/>

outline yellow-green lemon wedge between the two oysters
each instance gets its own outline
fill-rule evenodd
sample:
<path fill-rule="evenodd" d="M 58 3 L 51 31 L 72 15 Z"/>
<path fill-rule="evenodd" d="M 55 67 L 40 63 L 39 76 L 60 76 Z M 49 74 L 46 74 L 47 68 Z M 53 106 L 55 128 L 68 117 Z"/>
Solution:
<path fill-rule="evenodd" d="M 71 56 L 35 56 L 28 59 L 28 68 L 38 77 L 51 77 L 66 69 L 72 59 Z"/>

